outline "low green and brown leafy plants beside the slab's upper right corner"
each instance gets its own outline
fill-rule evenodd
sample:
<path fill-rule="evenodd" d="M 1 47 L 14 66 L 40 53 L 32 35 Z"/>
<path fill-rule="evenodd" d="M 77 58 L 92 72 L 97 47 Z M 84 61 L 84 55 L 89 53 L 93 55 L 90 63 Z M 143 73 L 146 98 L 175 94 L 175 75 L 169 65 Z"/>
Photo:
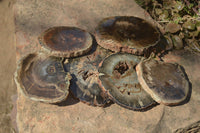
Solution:
<path fill-rule="evenodd" d="M 144 2 L 144 0 L 140 2 L 142 1 Z M 183 47 L 190 47 L 192 50 L 200 52 L 200 40 L 198 39 L 200 38 L 199 0 L 151 0 L 146 5 L 143 4 L 142 7 L 164 29 L 164 36 L 168 36 L 167 39 L 171 38 L 175 48 L 180 44 L 175 44 L 177 41 L 174 41 L 173 36 L 181 40 L 178 42 L 184 43 Z M 170 28 L 172 29 L 170 30 Z M 194 42 L 195 45 L 190 45 L 191 42 Z"/>

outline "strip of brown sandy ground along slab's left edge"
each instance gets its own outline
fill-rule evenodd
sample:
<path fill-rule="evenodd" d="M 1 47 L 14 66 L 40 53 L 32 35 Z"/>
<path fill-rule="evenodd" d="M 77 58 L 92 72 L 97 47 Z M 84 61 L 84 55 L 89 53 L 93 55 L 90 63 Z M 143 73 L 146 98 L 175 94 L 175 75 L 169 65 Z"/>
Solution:
<path fill-rule="evenodd" d="M 14 0 L 0 0 L 0 133 L 14 132 L 12 98 L 16 97 L 13 73 L 16 67 Z"/>

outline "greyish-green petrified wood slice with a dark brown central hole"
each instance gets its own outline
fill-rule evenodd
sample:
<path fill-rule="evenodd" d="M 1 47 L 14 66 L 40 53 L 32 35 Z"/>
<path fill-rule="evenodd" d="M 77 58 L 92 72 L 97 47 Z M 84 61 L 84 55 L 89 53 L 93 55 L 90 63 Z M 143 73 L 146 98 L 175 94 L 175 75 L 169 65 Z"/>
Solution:
<path fill-rule="evenodd" d="M 132 54 L 113 54 L 99 68 L 100 84 L 113 101 L 133 110 L 141 110 L 155 103 L 138 82 L 135 66 L 140 59 Z"/>

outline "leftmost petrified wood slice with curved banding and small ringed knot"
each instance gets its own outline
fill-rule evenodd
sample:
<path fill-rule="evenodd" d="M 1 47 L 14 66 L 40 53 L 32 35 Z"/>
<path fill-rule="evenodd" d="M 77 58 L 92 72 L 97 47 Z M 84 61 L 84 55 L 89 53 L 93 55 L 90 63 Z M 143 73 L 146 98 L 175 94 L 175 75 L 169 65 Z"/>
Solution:
<path fill-rule="evenodd" d="M 18 64 L 15 81 L 22 93 L 35 101 L 57 103 L 66 99 L 71 76 L 62 59 L 41 53 L 29 54 Z"/>

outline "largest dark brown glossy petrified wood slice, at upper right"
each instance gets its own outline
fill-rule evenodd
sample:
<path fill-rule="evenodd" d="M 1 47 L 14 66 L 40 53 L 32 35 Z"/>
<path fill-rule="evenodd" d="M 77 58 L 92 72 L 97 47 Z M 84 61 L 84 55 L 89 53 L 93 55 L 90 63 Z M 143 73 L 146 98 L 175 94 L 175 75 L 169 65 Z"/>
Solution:
<path fill-rule="evenodd" d="M 106 49 L 142 55 L 145 49 L 157 44 L 160 33 L 141 18 L 115 16 L 99 23 L 95 37 L 98 44 Z"/>

